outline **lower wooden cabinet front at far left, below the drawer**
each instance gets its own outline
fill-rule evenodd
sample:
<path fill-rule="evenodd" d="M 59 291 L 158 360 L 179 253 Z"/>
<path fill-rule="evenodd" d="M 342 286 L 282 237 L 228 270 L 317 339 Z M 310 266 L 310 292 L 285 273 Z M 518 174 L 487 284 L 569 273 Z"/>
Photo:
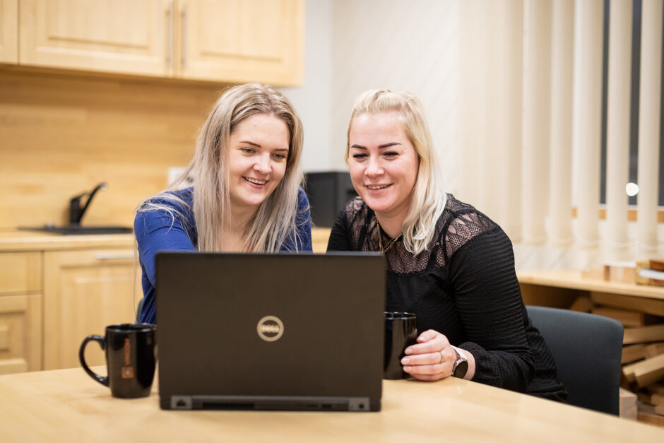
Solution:
<path fill-rule="evenodd" d="M 0 295 L 0 374 L 42 369 L 42 295 Z"/>

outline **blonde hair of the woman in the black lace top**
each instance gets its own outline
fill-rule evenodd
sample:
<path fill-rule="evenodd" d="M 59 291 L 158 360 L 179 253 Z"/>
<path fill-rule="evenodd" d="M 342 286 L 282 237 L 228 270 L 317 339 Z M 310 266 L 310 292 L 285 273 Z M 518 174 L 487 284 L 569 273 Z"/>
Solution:
<path fill-rule="evenodd" d="M 403 245 L 412 254 L 420 254 L 427 249 L 436 232 L 436 223 L 445 209 L 447 195 L 442 185 L 434 144 L 427 124 L 422 103 L 408 92 L 389 90 L 368 90 L 355 100 L 348 122 L 345 160 L 348 163 L 350 151 L 350 129 L 355 117 L 361 114 L 393 112 L 403 124 L 408 141 L 413 144 L 420 166 L 417 170 L 415 187 L 410 194 L 410 209 L 401 232 Z"/>

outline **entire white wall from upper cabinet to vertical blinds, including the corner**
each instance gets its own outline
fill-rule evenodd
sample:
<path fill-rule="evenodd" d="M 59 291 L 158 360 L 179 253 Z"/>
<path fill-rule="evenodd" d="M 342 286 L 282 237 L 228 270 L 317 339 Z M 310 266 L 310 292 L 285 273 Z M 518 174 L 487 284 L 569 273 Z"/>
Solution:
<path fill-rule="evenodd" d="M 307 0 L 304 84 L 283 88 L 304 124 L 305 171 L 346 170 L 348 117 L 364 90 L 410 90 L 429 113 L 454 190 L 458 0 Z"/>

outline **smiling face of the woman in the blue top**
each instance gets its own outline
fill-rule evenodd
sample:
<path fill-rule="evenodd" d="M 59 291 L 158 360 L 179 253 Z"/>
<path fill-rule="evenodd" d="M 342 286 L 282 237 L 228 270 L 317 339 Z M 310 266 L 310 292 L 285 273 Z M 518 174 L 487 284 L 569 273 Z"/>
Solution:
<path fill-rule="evenodd" d="M 290 133 L 285 122 L 254 114 L 239 122 L 225 152 L 231 211 L 254 213 L 286 172 Z"/>

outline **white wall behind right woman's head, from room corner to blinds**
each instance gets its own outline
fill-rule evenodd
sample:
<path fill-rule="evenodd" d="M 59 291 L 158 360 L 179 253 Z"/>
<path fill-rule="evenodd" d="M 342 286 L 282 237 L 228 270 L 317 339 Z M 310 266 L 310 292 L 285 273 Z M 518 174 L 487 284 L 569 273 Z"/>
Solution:
<path fill-rule="evenodd" d="M 456 184 L 456 0 L 333 2 L 332 148 L 336 169 L 352 103 L 369 89 L 409 90 L 429 114 L 446 177 Z"/>

